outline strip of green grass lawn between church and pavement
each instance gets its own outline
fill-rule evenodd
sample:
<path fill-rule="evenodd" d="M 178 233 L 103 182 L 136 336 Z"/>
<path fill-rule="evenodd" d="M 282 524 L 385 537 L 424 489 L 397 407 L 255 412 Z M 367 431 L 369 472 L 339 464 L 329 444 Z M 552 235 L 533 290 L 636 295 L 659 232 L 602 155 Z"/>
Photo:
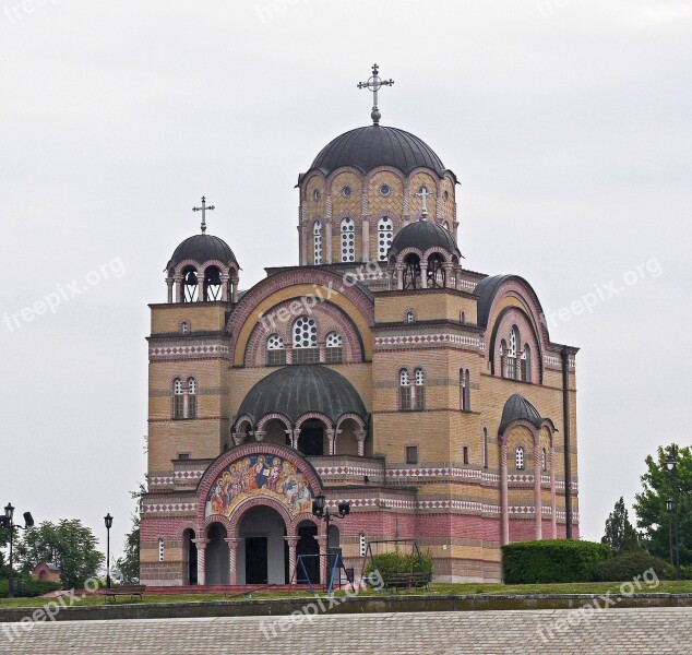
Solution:
<path fill-rule="evenodd" d="M 458 594 L 458 595 L 473 595 L 473 594 L 616 594 L 620 591 L 620 584 L 618 582 L 584 582 L 584 583 L 569 583 L 569 584 L 524 584 L 524 585 L 504 585 L 499 583 L 463 583 L 463 584 L 433 584 L 430 592 L 425 590 L 411 590 L 401 591 L 399 596 L 405 594 L 411 595 L 444 595 L 444 594 Z M 625 587 L 625 592 L 630 592 L 629 587 Z M 377 592 L 374 590 L 368 590 L 360 592 L 359 596 L 380 596 L 389 594 L 390 592 Z M 657 587 L 653 587 L 646 584 L 642 584 L 642 588 L 639 593 L 657 593 L 657 594 L 692 594 L 692 581 L 683 580 L 680 582 L 666 580 L 661 581 Z M 343 592 L 337 592 L 336 595 L 342 595 Z M 279 598 L 309 598 L 310 594 L 305 591 L 299 592 L 255 592 L 252 594 L 252 599 L 279 599 Z M 0 608 L 4 607 L 41 607 L 50 598 L 0 598 Z M 138 603 L 138 604 L 154 604 L 154 603 L 208 603 L 208 602 L 227 602 L 227 603 L 241 603 L 246 600 L 240 596 L 232 599 L 224 598 L 223 594 L 170 594 L 165 596 L 147 596 L 140 600 L 135 598 L 130 600 L 128 597 L 118 598 L 117 603 Z M 106 600 L 103 596 L 90 596 L 74 606 L 91 606 L 91 605 L 110 605 L 111 602 Z"/>

